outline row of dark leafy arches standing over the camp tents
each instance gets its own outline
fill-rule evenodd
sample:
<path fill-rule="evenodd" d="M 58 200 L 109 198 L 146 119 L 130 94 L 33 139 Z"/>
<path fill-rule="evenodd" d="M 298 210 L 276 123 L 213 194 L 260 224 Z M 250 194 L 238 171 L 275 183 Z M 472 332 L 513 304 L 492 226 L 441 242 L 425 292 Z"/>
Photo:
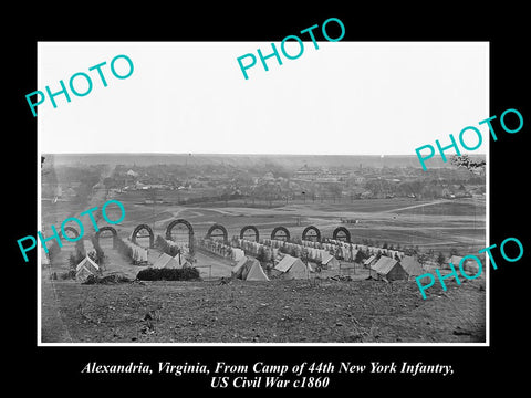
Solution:
<path fill-rule="evenodd" d="M 190 253 L 194 252 L 194 227 L 191 224 L 184 220 L 174 220 L 171 221 L 168 227 L 166 228 L 166 239 L 171 240 L 171 230 L 178 226 L 183 224 L 188 229 L 188 244 L 189 244 L 189 250 Z M 131 240 L 133 243 L 136 243 L 136 239 L 138 238 L 138 233 L 140 231 L 147 231 L 147 235 L 149 237 L 149 248 L 153 248 L 155 244 L 155 234 L 153 233 L 152 228 L 148 224 L 139 224 L 133 230 L 133 234 L 131 235 Z M 65 227 L 64 232 L 69 231 L 72 233 L 74 237 L 79 237 L 79 232 L 75 228 L 73 227 Z M 100 241 L 100 235 L 102 232 L 105 231 L 111 231 L 113 234 L 113 248 L 116 249 L 116 239 L 118 237 L 118 233 L 113 227 L 102 227 L 100 230 L 96 232 L 96 241 Z M 207 239 L 212 239 L 212 238 L 221 238 L 225 243 L 228 243 L 229 241 L 229 233 L 227 229 L 218 223 L 215 223 L 211 226 L 206 234 Z M 282 226 L 279 226 L 274 228 L 271 232 L 271 239 L 277 239 L 277 240 L 290 240 L 290 231 Z M 240 230 L 240 239 L 253 239 L 254 241 L 260 240 L 260 232 L 258 231 L 258 228 L 254 226 L 246 226 Z M 314 240 L 314 241 L 320 241 L 321 240 L 321 231 L 319 228 L 314 226 L 306 227 L 302 231 L 302 239 L 303 240 Z M 345 228 L 345 227 L 337 227 L 333 233 L 332 233 L 332 239 L 334 240 L 340 240 L 340 241 L 345 241 L 345 242 L 351 242 L 351 232 Z"/>

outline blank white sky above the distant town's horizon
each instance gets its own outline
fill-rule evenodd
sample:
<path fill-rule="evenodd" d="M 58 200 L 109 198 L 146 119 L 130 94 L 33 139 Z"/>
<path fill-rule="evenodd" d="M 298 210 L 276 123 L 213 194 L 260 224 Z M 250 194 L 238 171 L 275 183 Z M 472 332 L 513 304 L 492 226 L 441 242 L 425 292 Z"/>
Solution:
<path fill-rule="evenodd" d="M 282 65 L 272 57 L 269 72 L 258 61 L 244 80 L 237 57 L 269 54 L 270 42 L 41 42 L 35 90 L 56 92 L 76 72 L 93 88 L 71 93 L 71 103 L 58 96 L 58 108 L 48 97 L 39 106 L 40 151 L 415 155 L 490 116 L 486 42 L 319 48 L 304 42 L 299 59 L 281 54 Z M 128 78 L 110 71 L 118 54 L 134 63 Z M 88 72 L 103 61 L 107 87 Z M 123 60 L 116 66 L 127 70 Z M 480 130 L 475 153 L 485 154 Z"/>

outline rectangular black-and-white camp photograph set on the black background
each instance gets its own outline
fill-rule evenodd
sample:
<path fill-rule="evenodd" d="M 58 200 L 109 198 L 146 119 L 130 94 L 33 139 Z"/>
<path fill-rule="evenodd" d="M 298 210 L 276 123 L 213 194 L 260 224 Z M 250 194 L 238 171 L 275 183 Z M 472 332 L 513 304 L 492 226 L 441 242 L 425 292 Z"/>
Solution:
<path fill-rule="evenodd" d="M 488 43 L 39 43 L 39 344 L 488 343 Z"/>

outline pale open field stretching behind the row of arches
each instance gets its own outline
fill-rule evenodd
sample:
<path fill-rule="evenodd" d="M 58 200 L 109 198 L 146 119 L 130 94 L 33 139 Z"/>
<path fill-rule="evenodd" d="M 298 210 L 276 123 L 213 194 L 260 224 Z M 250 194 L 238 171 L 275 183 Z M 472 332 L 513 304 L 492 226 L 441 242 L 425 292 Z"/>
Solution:
<path fill-rule="evenodd" d="M 137 195 L 147 193 L 138 191 Z M 205 206 L 168 206 L 138 205 L 138 198 L 133 201 L 127 197 L 98 198 L 101 203 L 91 201 L 91 206 L 102 206 L 108 199 L 119 200 L 126 216 L 123 222 L 113 226 L 123 238 L 128 237 L 133 229 L 146 223 L 155 234 L 165 234 L 167 224 L 175 219 L 186 219 L 195 230 L 196 238 L 201 238 L 214 223 L 220 223 L 228 230 L 229 238 L 239 235 L 244 226 L 256 226 L 262 238 L 269 237 L 273 228 L 284 226 L 292 237 L 301 237 L 308 226 L 315 226 L 323 237 L 332 237 L 333 230 L 343 226 L 351 231 L 353 243 L 362 243 L 362 239 L 372 239 L 381 244 L 387 242 L 396 247 L 418 245 L 420 250 L 434 249 L 449 252 L 451 248 L 459 254 L 475 253 L 486 247 L 486 207 L 482 199 L 455 199 L 414 201 L 407 199 L 369 199 L 355 200 L 353 203 L 306 203 L 288 205 L 275 208 L 238 207 L 229 201 L 223 207 Z M 131 198 L 131 196 L 129 196 Z M 88 207 L 74 210 L 72 203 L 43 201 L 43 227 L 54 223 L 59 229 L 61 220 L 75 216 Z M 111 219 L 119 217 L 119 209 L 108 207 Z M 97 214 L 98 224 L 105 221 Z M 360 223 L 342 223 L 341 219 L 355 219 Z M 83 218 L 85 233 L 93 233 L 88 218 Z M 74 224 L 75 227 L 75 224 Z M 178 233 L 179 228 L 174 229 Z M 185 233 L 185 231 L 181 231 Z"/>

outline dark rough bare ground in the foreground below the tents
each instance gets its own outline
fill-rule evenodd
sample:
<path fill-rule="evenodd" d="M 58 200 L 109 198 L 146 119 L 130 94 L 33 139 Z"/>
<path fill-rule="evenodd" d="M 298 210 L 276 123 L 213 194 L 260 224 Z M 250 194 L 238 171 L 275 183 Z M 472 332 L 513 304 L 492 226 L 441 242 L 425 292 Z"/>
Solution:
<path fill-rule="evenodd" d="M 429 292 L 412 282 L 55 282 L 73 342 L 485 342 L 483 282 Z"/>

